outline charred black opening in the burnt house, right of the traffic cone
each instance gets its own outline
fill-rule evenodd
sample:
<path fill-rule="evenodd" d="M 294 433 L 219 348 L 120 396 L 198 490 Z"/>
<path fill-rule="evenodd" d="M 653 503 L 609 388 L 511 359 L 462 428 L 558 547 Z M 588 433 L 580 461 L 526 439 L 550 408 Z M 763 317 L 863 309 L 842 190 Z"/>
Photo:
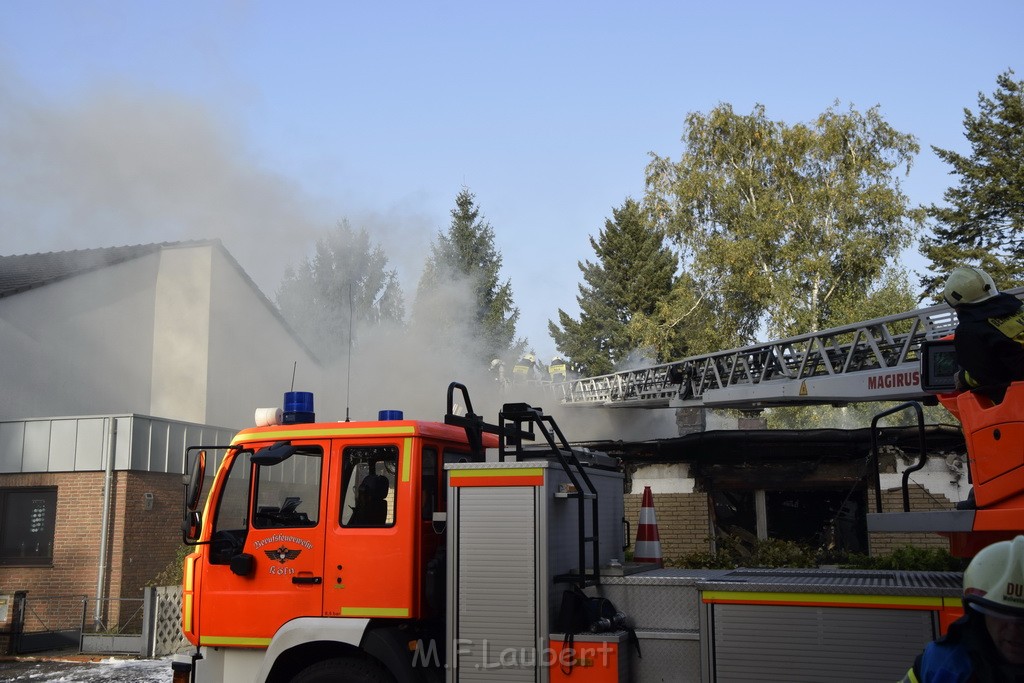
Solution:
<path fill-rule="evenodd" d="M 758 540 L 792 541 L 812 549 L 864 553 L 866 489 L 821 487 L 796 490 L 716 490 L 716 537 L 730 536 L 744 545 Z"/>

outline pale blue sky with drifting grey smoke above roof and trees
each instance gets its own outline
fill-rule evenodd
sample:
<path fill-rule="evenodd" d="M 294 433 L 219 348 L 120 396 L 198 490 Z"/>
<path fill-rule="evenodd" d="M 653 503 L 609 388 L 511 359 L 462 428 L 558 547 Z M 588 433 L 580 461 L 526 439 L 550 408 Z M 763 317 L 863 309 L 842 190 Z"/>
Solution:
<path fill-rule="evenodd" d="M 411 301 L 467 186 L 544 357 L 688 113 L 878 104 L 921 142 L 910 200 L 941 202 L 930 145 L 967 151 L 964 108 L 1024 76 L 1021 26 L 1020 0 L 0 0 L 0 253 L 219 237 L 272 298 L 347 218 Z"/>

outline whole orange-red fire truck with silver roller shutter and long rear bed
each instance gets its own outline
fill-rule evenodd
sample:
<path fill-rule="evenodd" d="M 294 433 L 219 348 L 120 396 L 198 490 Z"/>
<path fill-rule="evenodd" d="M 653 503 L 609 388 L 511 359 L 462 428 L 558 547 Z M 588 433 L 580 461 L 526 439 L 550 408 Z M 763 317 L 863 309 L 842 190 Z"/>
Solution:
<path fill-rule="evenodd" d="M 187 450 L 176 683 L 820 680 L 822 657 L 895 680 L 961 613 L 953 572 L 626 562 L 617 463 L 525 403 L 490 425 L 458 384 L 443 422 L 304 401 L 258 412 L 208 486 Z"/>

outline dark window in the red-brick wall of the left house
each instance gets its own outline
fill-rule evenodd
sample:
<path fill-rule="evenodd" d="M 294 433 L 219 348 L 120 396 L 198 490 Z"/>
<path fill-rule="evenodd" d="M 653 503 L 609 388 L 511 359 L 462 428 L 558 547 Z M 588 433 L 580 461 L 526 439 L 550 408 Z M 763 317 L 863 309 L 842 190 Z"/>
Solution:
<path fill-rule="evenodd" d="M 0 488 L 0 564 L 52 564 L 56 510 L 56 488 Z"/>

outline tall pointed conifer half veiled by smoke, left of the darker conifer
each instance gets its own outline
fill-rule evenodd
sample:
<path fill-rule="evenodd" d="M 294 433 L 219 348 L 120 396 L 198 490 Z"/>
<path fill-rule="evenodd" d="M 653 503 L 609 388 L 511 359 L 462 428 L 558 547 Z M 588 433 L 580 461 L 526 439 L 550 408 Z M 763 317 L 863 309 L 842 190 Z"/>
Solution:
<path fill-rule="evenodd" d="M 420 334 L 439 345 L 469 335 L 479 343 L 479 360 L 523 346 L 515 339 L 519 309 L 511 282 L 499 281 L 501 267 L 494 228 L 480 218 L 473 194 L 464 187 L 456 197 L 452 224 L 437 233 L 420 278 L 413 309 Z"/>

